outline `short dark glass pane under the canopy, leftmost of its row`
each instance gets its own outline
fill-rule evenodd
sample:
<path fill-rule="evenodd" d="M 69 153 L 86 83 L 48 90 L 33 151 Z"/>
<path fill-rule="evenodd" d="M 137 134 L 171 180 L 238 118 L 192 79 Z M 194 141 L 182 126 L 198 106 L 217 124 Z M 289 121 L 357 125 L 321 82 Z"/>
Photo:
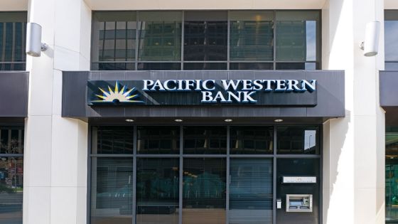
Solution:
<path fill-rule="evenodd" d="M 133 127 L 93 127 L 92 154 L 133 154 Z"/>

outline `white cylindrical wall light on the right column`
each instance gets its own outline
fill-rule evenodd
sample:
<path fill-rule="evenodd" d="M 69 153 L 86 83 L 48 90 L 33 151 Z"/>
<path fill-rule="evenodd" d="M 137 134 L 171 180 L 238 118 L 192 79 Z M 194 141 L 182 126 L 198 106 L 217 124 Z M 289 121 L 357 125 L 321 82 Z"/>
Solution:
<path fill-rule="evenodd" d="M 372 21 L 366 24 L 365 41 L 360 43 L 365 57 L 372 57 L 379 52 L 380 22 Z"/>

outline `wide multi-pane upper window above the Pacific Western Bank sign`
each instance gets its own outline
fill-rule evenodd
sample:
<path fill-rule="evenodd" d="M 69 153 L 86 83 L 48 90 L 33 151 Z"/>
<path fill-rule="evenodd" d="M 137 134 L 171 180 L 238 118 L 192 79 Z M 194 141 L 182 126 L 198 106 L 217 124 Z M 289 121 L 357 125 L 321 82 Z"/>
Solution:
<path fill-rule="evenodd" d="M 92 70 L 316 70 L 319 11 L 97 11 Z"/>

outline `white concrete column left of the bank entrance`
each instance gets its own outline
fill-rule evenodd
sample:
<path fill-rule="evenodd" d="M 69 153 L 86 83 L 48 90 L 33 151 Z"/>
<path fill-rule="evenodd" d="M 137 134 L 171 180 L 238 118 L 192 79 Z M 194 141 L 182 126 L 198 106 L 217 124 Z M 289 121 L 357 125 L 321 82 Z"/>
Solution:
<path fill-rule="evenodd" d="M 82 0 L 30 0 L 48 50 L 30 72 L 23 223 L 86 223 L 87 123 L 61 117 L 62 71 L 90 69 L 91 11 Z"/>

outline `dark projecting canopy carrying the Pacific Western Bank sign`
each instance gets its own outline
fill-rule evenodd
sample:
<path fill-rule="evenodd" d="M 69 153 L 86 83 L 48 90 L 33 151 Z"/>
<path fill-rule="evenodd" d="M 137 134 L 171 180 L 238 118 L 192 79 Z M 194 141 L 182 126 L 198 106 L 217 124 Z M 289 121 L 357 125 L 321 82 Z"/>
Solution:
<path fill-rule="evenodd" d="M 254 95 L 256 103 L 234 102 L 230 104 L 201 102 L 203 90 L 187 92 L 145 91 L 137 87 L 136 100 L 143 103 L 99 103 L 102 92 L 114 91 L 116 81 L 119 91 L 125 83 L 140 83 L 144 80 L 316 80 L 316 91 L 306 92 L 267 92 L 264 89 Z M 96 83 L 102 83 L 97 86 Z M 217 81 L 215 81 L 217 82 Z M 107 88 L 109 83 L 109 88 Z M 99 84 L 98 84 L 99 85 Z M 127 85 L 126 85 L 127 86 Z M 99 90 L 99 87 L 104 90 Z M 133 86 L 131 86 L 132 88 Z M 126 87 L 127 88 L 127 87 Z M 195 87 L 192 87 L 195 88 Z M 265 88 L 265 86 L 264 86 Z M 93 91 L 97 92 L 93 92 Z M 134 90 L 135 91 L 135 90 Z M 218 91 L 225 94 L 225 90 Z M 134 93 L 135 94 L 135 93 Z M 164 95 L 163 95 L 164 94 Z M 98 97 L 95 99 L 98 95 Z M 214 96 L 213 95 L 213 96 Z M 105 94 L 103 95 L 105 96 Z M 94 97 L 94 98 L 92 98 Z M 314 98 L 315 97 L 315 98 Z M 199 100 L 198 100 L 198 99 Z M 257 99 L 257 98 L 256 98 Z M 261 100 L 262 99 L 262 100 Z M 77 71 L 63 72 L 63 117 L 103 122 L 124 122 L 134 119 L 136 122 L 149 120 L 167 123 L 174 119 L 197 123 L 203 119 L 234 119 L 234 123 L 256 124 L 271 123 L 283 118 L 286 122 L 322 123 L 330 118 L 345 116 L 344 72 L 331 70 L 173 70 L 173 71 Z M 170 102 L 168 102 L 170 101 Z M 181 102 L 180 102 L 181 101 Z M 158 102 L 154 105 L 153 102 Z"/>

